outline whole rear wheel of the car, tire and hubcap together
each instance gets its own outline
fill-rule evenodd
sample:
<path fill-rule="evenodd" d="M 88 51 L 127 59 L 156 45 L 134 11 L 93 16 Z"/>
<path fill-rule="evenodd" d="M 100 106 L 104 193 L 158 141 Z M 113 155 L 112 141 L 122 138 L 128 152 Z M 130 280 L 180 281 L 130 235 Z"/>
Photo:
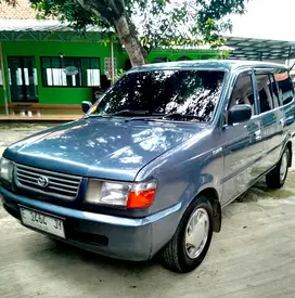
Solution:
<path fill-rule="evenodd" d="M 287 176 L 291 152 L 290 148 L 286 146 L 275 168 L 266 177 L 267 185 L 269 189 L 280 189 L 284 185 Z"/>

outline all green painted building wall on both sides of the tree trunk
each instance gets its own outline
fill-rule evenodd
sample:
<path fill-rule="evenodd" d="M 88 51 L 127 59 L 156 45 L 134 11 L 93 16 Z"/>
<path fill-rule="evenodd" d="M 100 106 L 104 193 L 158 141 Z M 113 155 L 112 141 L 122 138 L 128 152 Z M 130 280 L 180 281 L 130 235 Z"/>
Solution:
<path fill-rule="evenodd" d="M 54 37 L 54 36 L 53 36 Z M 100 57 L 101 73 L 104 74 L 104 59 L 111 57 L 111 44 L 103 42 L 57 42 L 57 41 L 13 41 L 2 42 L 3 66 L 7 78 L 8 100 L 11 102 L 8 72 L 8 56 L 34 56 L 38 75 L 38 96 L 40 104 L 80 104 L 81 101 L 91 100 L 91 88 L 81 87 L 43 87 L 41 79 L 41 56 L 92 56 Z M 117 67 L 125 68 L 128 60 L 127 53 L 119 44 L 114 44 L 114 54 L 117 59 Z M 167 57 L 169 61 L 177 61 L 181 56 L 189 56 L 192 60 L 217 57 L 218 51 L 200 50 L 154 50 L 149 55 L 149 63 L 156 57 Z M 4 104 L 3 88 L 0 87 L 0 104 Z"/>

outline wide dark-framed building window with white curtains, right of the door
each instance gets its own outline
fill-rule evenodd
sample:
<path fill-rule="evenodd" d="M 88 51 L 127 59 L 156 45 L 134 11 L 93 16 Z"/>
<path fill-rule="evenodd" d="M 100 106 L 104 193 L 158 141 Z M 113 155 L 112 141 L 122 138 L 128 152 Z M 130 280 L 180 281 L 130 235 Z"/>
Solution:
<path fill-rule="evenodd" d="M 100 86 L 98 57 L 41 57 L 43 86 L 94 87 Z"/>

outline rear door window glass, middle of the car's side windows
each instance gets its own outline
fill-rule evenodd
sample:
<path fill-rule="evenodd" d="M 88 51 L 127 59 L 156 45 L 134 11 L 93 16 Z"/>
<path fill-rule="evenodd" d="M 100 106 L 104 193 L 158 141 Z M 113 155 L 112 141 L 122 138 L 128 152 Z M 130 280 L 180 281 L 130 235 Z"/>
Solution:
<path fill-rule="evenodd" d="M 260 105 L 260 113 L 268 112 L 273 108 L 272 96 L 270 92 L 270 81 L 268 74 L 256 75 L 257 90 Z"/>

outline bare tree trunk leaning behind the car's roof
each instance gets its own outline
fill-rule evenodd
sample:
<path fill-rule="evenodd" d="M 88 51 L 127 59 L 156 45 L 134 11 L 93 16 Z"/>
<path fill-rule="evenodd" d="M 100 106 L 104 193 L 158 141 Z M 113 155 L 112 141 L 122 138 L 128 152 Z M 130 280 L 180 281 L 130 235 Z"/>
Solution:
<path fill-rule="evenodd" d="M 137 33 L 132 28 L 125 15 L 121 15 L 118 20 L 114 20 L 114 25 L 117 30 L 118 37 L 123 46 L 129 55 L 132 66 L 140 66 L 146 64 L 146 51 L 140 44 Z"/>

